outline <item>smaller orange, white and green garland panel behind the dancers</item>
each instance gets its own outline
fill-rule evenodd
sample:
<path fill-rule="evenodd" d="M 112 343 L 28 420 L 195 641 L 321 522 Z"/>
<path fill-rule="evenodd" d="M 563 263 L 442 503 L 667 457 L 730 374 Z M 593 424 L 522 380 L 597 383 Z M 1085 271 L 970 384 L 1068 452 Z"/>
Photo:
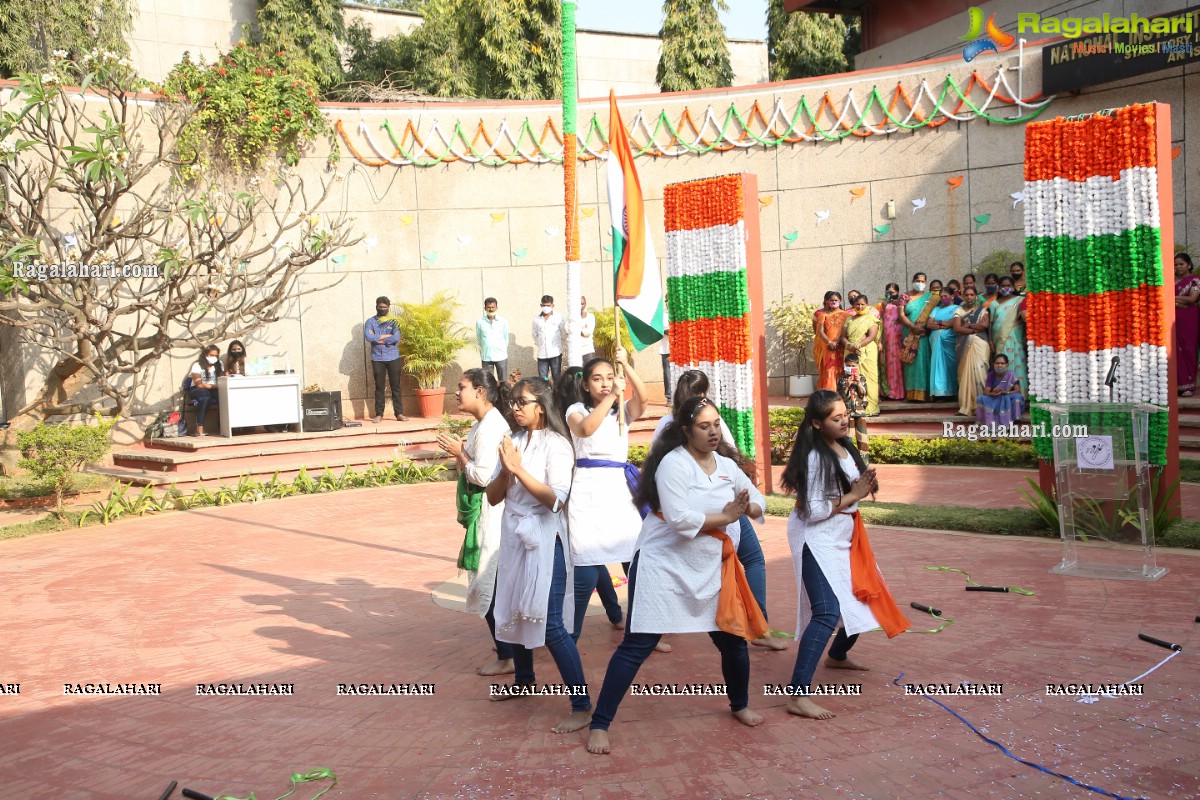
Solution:
<path fill-rule="evenodd" d="M 754 350 L 746 290 L 745 198 L 739 175 L 664 190 L 671 381 L 708 375 L 708 397 L 743 453 L 755 455 Z"/>

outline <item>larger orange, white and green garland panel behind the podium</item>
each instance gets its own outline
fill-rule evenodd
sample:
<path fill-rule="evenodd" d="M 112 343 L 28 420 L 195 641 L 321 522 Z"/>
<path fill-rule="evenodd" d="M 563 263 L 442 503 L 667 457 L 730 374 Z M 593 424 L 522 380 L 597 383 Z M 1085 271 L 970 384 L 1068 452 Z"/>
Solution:
<path fill-rule="evenodd" d="M 1025 128 L 1025 251 L 1031 419 L 1039 403 L 1105 403 L 1104 378 L 1121 359 L 1114 402 L 1168 405 L 1168 331 L 1162 299 L 1156 106 L 1129 106 Z M 1076 419 L 1078 416 L 1078 419 Z M 1092 429 L 1129 428 L 1128 414 L 1072 414 Z M 1151 415 L 1153 464 L 1166 463 L 1168 413 Z M 1034 439 L 1054 455 L 1050 437 Z"/>

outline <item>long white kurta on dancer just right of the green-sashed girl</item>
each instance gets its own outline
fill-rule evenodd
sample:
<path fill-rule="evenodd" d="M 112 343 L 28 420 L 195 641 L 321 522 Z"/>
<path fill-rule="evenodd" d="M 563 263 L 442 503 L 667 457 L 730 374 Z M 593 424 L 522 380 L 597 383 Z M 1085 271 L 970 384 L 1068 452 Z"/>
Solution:
<path fill-rule="evenodd" d="M 551 431 L 524 431 L 512 435 L 521 451 L 521 467 L 535 480 L 546 483 L 558 498 L 553 509 L 544 506 L 521 481 L 509 476 L 504 495 L 500 534 L 499 572 L 496 577 L 496 638 L 500 642 L 540 648 L 546 643 L 545 613 L 554 570 L 554 540 L 563 540 L 566 560 L 566 587 L 563 597 L 563 625 L 575 624 L 575 585 L 571 567 L 570 537 L 563 504 L 571 492 L 575 453 L 571 444 Z M 524 577 L 529 581 L 524 581 Z"/>

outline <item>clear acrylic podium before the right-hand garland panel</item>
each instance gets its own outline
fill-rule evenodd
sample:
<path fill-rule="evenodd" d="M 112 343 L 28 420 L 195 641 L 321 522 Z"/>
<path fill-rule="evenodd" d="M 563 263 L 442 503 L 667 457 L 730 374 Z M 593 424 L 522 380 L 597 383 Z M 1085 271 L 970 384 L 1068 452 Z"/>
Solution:
<path fill-rule="evenodd" d="M 1145 403 L 1043 404 L 1050 414 L 1062 563 L 1058 575 L 1157 581 L 1150 416 Z M 1086 432 L 1086 435 L 1080 435 Z"/>

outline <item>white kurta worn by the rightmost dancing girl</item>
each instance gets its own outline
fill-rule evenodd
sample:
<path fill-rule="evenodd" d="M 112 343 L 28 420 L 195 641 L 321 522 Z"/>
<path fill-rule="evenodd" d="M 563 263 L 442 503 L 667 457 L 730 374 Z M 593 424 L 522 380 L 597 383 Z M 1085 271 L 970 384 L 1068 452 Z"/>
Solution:
<path fill-rule="evenodd" d="M 812 619 L 812 604 L 809 602 L 809 594 L 804 589 L 804 578 L 800 573 L 800 558 L 804 546 L 821 566 L 829 587 L 838 596 L 838 604 L 841 607 L 841 624 L 846 627 L 846 633 L 853 636 L 878 627 L 880 624 L 871 614 L 871 609 L 863 601 L 854 596 L 854 589 L 850 577 L 850 543 L 854 535 L 854 521 L 848 513 L 833 513 L 833 504 L 841 494 L 836 492 L 833 498 L 826 497 L 826 487 L 818 483 L 820 455 L 809 455 L 808 469 L 808 518 L 800 517 L 797 511 L 787 518 L 787 543 L 792 547 L 792 563 L 796 566 L 796 594 L 799 596 L 799 608 L 797 609 L 796 638 L 799 639 Z M 854 459 L 846 453 L 840 459 L 841 469 L 851 482 L 858 480 L 858 467 Z M 853 513 L 858 504 L 853 504 L 844 511 Z"/>

